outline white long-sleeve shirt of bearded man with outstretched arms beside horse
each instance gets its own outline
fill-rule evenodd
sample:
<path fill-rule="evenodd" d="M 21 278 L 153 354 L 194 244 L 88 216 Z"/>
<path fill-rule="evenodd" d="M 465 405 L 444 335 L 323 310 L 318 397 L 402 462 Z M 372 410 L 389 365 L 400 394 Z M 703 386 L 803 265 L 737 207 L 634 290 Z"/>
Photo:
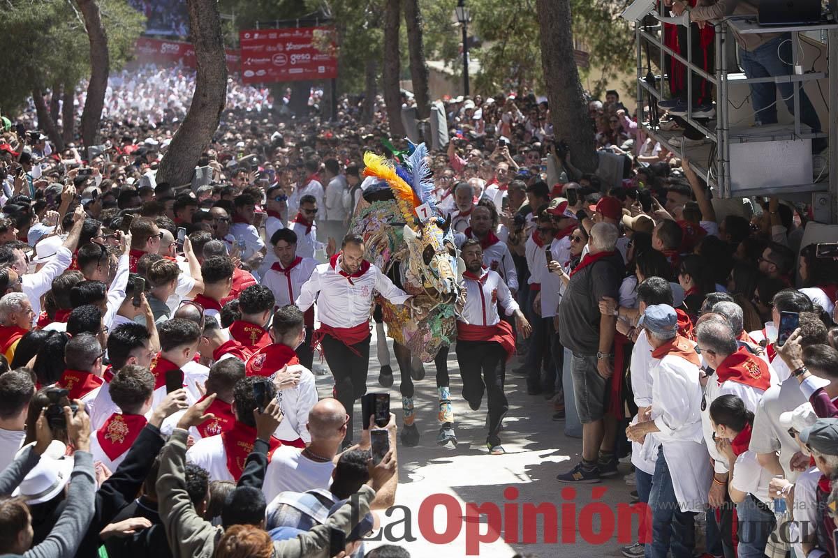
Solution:
<path fill-rule="evenodd" d="M 394 305 L 402 305 L 410 294 L 396 287 L 381 270 L 370 264 L 365 274 L 348 278 L 339 273 L 340 257 L 333 268 L 319 264 L 300 289 L 297 308 L 305 312 L 317 300 L 319 319 L 332 327 L 355 327 L 370 320 L 372 297 L 378 292 Z"/>

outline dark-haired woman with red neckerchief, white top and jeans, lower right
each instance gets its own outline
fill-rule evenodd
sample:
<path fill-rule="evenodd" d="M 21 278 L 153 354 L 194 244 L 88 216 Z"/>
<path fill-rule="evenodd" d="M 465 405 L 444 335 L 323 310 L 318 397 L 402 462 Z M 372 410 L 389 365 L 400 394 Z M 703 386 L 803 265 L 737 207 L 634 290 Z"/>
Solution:
<path fill-rule="evenodd" d="M 736 395 L 716 397 L 710 405 L 716 448 L 730 463 L 727 490 L 736 504 L 739 558 L 763 558 L 768 536 L 775 527 L 773 502 L 768 496 L 772 475 L 748 450 L 753 412 Z M 716 482 L 716 481 L 714 481 Z"/>

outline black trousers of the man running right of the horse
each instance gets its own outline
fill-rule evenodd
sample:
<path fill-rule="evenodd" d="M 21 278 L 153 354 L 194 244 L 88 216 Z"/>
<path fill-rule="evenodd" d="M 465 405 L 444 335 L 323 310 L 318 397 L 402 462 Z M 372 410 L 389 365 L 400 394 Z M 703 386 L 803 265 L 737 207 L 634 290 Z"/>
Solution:
<path fill-rule="evenodd" d="M 463 399 L 475 411 L 483 394 L 489 400 L 489 438 L 493 446 L 500 443 L 500 421 L 510 410 L 501 383 L 498 365 L 506 359 L 506 351 L 494 341 L 457 341 L 457 362 L 463 377 Z"/>

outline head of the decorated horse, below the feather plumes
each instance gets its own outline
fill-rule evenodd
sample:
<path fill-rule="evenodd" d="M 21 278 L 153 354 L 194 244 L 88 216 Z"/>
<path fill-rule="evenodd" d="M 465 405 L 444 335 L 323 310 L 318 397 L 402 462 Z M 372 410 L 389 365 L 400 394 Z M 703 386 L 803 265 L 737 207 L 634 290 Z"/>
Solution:
<path fill-rule="evenodd" d="M 404 239 L 410 250 L 410 268 L 422 278 L 433 299 L 453 302 L 458 295 L 458 256 L 451 231 L 451 218 L 430 219 L 414 231 L 405 225 Z"/>

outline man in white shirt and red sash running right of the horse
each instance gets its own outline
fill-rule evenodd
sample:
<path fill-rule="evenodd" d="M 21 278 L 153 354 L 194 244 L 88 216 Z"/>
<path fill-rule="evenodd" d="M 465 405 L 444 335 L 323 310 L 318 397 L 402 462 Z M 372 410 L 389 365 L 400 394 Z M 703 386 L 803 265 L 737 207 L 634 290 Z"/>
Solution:
<path fill-rule="evenodd" d="M 457 361 L 463 376 L 463 398 L 476 411 L 484 391 L 489 406 L 489 453 L 505 453 L 500 445 L 500 426 L 509 404 L 504 394 L 499 365 L 515 353 L 512 326 L 498 315 L 498 304 L 506 315 L 515 315 L 515 327 L 524 337 L 530 335 L 530 323 L 512 298 L 500 275 L 483 268 L 483 251 L 477 240 L 463 243 L 460 253 L 467 271 L 463 274 L 466 302 L 457 317 Z"/>

